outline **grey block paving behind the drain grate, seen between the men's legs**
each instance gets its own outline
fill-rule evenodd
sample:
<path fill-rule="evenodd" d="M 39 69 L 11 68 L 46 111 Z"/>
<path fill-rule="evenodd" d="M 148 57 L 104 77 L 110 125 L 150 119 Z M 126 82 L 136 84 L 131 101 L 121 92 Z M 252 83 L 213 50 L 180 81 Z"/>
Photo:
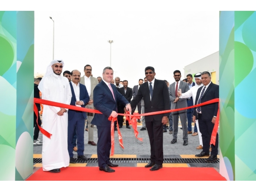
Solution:
<path fill-rule="evenodd" d="M 136 154 L 136 155 L 143 155 L 145 157 L 150 157 L 150 144 L 148 138 L 148 131 L 140 131 L 141 124 L 138 123 L 138 137 L 143 138 L 143 142 L 139 141 L 135 138 L 134 130 L 126 128 L 120 129 L 123 144 L 125 149 L 122 149 L 119 145 L 118 141 L 118 134 L 115 131 L 115 154 Z M 130 125 L 131 126 L 131 125 Z M 194 128 L 192 128 L 194 130 Z M 39 139 L 42 141 L 42 134 L 39 133 Z M 188 145 L 183 146 L 182 140 L 182 129 L 179 128 L 178 130 L 178 137 L 177 143 L 171 144 L 172 134 L 169 134 L 169 130 L 167 129 L 167 133 L 164 133 L 164 157 L 170 157 L 170 155 L 195 155 L 199 154 L 201 150 L 197 150 L 196 147 L 199 145 L 199 138 L 197 136 L 192 136 L 192 134 L 188 135 Z M 97 128 L 94 128 L 94 142 L 97 143 L 98 136 L 97 136 Z M 87 144 L 88 143 L 88 132 L 85 131 L 85 151 L 84 154 L 92 155 L 97 154 L 97 146 L 92 146 Z M 42 146 L 34 146 L 34 154 L 42 154 Z M 74 152 L 74 157 L 77 157 L 77 153 Z"/>

